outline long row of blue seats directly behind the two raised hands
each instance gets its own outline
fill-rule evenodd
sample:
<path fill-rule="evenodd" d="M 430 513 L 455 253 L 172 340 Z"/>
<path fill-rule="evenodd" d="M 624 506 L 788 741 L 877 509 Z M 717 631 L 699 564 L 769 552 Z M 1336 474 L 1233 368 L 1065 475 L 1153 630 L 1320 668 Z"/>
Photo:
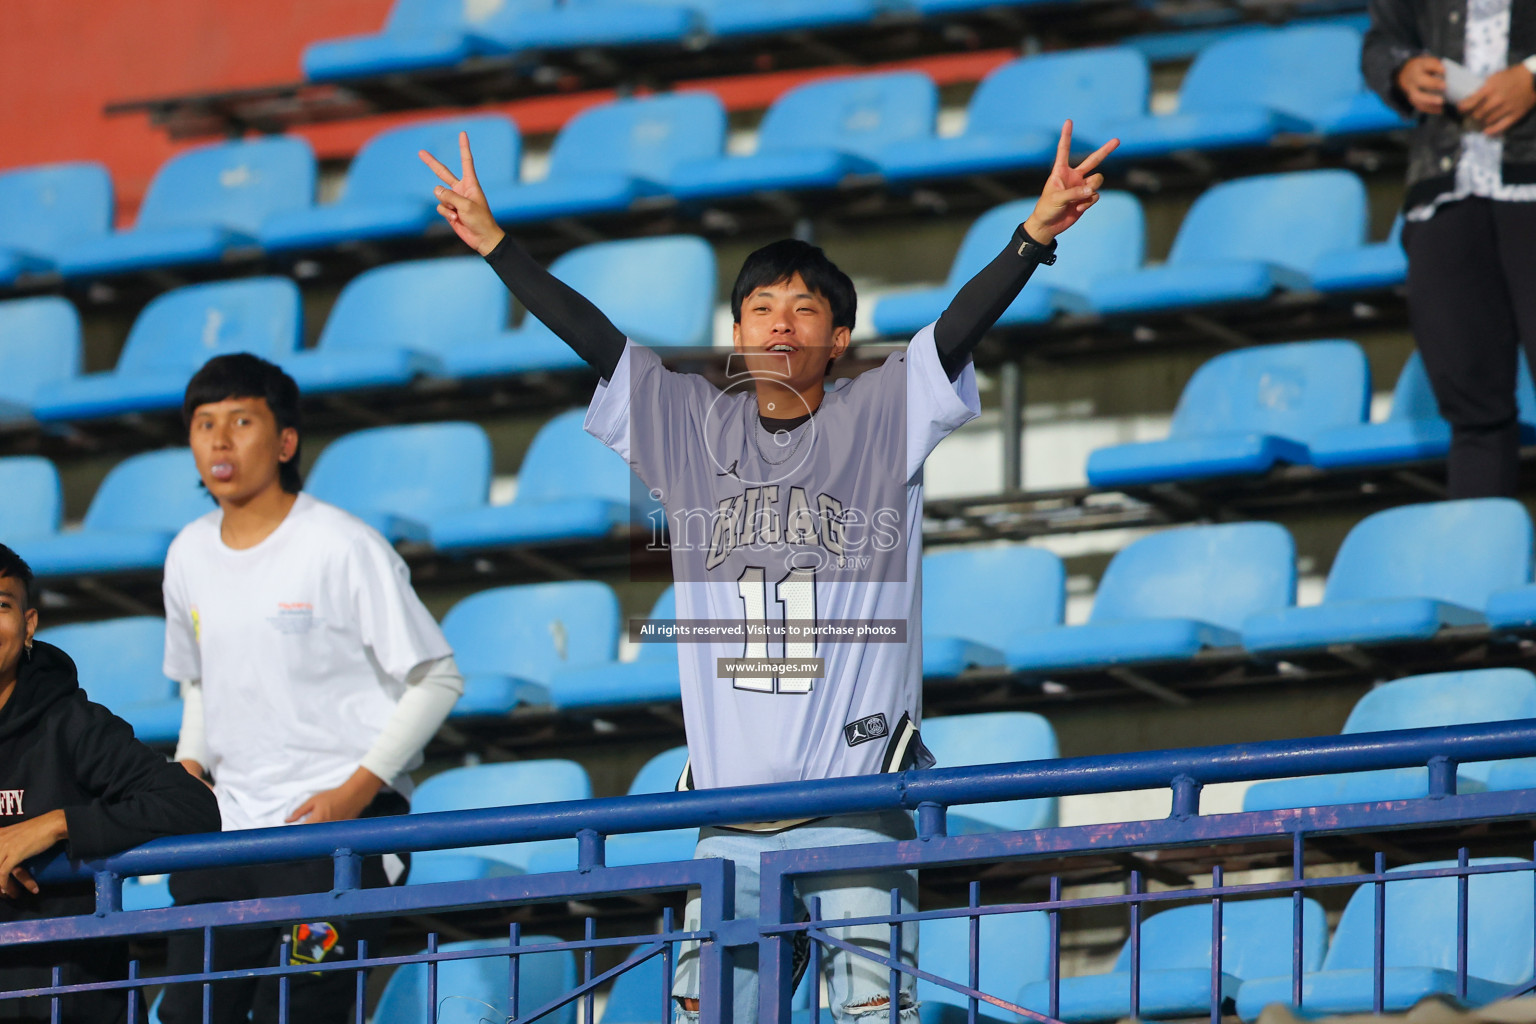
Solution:
<path fill-rule="evenodd" d="M 725 154 L 725 111 L 711 94 L 617 100 L 573 118 L 544 181 L 519 181 L 521 138 L 499 115 L 392 129 L 356 155 L 336 203 L 315 206 L 315 158 L 300 138 L 223 143 L 157 173 L 131 230 L 109 230 L 112 187 L 97 164 L 0 175 L 0 284 L 23 272 L 66 278 L 217 263 L 421 236 L 438 227 L 436 180 L 418 149 L 456 161 L 470 132 L 490 207 L 507 223 L 613 213 L 636 200 L 697 204 L 753 192 L 836 187 L 849 177 L 919 180 L 1046 167 L 1064 117 L 1084 146 L 1121 140 L 1118 160 L 1186 149 L 1261 146 L 1276 135 L 1356 135 L 1402 120 L 1364 91 L 1359 34 L 1347 26 L 1246 32 L 1195 60 L 1180 112 L 1147 112 L 1146 57 L 1106 48 L 1026 57 L 977 88 L 966 129 L 935 134 L 938 91 L 920 72 L 852 75 L 791 89 L 768 109 L 751 155 Z M 69 203 L 61 203 L 63 197 Z M 1327 224 L 1332 216 L 1319 218 Z"/>

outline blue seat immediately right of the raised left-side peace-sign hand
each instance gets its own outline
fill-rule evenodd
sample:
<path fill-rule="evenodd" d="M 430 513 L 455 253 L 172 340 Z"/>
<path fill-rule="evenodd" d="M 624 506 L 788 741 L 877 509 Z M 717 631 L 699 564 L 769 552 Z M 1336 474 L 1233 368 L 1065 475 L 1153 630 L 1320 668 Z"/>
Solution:
<path fill-rule="evenodd" d="M 616 100 L 567 121 L 544 181 L 487 184 L 485 203 L 508 224 L 625 210 L 665 193 L 679 163 L 723 152 L 725 107 L 713 94 Z"/>

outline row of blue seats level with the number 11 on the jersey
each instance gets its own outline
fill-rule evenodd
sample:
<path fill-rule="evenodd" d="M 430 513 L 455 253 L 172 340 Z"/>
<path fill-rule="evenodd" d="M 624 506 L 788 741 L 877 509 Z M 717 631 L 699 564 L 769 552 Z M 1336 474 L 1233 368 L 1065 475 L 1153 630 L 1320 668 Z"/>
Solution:
<path fill-rule="evenodd" d="M 1186 527 L 1132 543 L 1112 559 L 1084 625 L 1061 625 L 1064 579 L 1057 556 L 1028 545 L 925 556 L 923 676 L 945 680 L 975 668 L 1051 676 L 1210 651 L 1281 657 L 1339 643 L 1424 642 L 1458 625 L 1508 636 L 1536 628 L 1531 527 L 1504 499 L 1362 520 L 1313 606 L 1292 603 L 1293 545 L 1273 524 Z M 671 588 L 648 617 L 676 617 Z M 465 672 L 459 718 L 680 699 L 673 643 L 641 643 L 633 660 L 619 660 L 619 600 L 596 580 L 487 590 L 456 603 L 442 628 Z M 78 651 L 103 703 L 147 742 L 167 743 L 181 712 L 160 671 L 163 633 L 163 620 L 134 617 L 57 626 L 45 639 Z M 1462 708 L 1484 714 L 1475 700 Z M 1536 715 L 1536 695 L 1531 709 Z"/>

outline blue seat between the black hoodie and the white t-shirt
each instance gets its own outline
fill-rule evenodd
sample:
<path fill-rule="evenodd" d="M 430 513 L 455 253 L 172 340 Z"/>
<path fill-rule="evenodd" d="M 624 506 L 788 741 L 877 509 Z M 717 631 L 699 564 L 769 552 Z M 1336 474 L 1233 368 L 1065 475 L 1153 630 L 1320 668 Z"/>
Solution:
<path fill-rule="evenodd" d="M 80 688 L 134 726 L 144 743 L 175 743 L 181 735 L 181 697 L 166 679 L 166 620 L 158 616 L 78 622 L 38 629 L 75 662 Z"/>

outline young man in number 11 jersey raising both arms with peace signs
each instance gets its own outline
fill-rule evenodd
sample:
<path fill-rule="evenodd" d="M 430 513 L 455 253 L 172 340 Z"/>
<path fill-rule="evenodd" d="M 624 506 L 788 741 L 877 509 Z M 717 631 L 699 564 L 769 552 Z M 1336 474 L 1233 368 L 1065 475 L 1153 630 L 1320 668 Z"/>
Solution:
<path fill-rule="evenodd" d="M 1035 266 L 1054 263 L 1055 236 L 1097 201 L 1103 175 L 1092 172 L 1117 144 L 1074 167 L 1064 124 L 1029 220 L 1011 239 L 998 239 L 1006 241 L 998 256 L 937 324 L 852 379 L 825 382 L 854 327 L 857 296 L 848 275 L 805 243 L 759 249 L 731 293 L 731 359 L 745 368 L 736 382 L 754 387 L 725 390 L 667 370 L 507 238 L 485 206 L 465 137 L 462 178 L 421 154 L 444 183 L 435 190 L 444 220 L 601 375 L 587 430 L 622 454 L 667 508 L 677 620 L 737 628 L 728 642 L 679 643 L 685 785 L 796 781 L 932 763 L 917 735 L 923 461 L 980 413 L 971 352 Z M 748 623 L 779 633 L 763 642 L 748 634 Z M 882 637 L 891 642 L 857 633 L 892 623 L 895 636 Z M 770 659 L 770 649 L 785 657 Z M 912 835 L 911 817 L 900 812 L 771 821 L 703 829 L 696 855 L 736 863 L 736 910 L 750 915 L 765 851 Z M 797 895 L 819 897 L 825 918 L 859 918 L 888 913 L 891 889 L 915 906 L 911 872 L 845 875 L 800 886 Z M 693 906 L 688 917 L 696 920 Z M 842 932 L 872 953 L 888 950 L 885 926 Z M 902 935 L 900 956 L 912 964 L 915 929 Z M 737 950 L 737 1024 L 757 1019 L 754 955 L 756 947 Z M 831 950 L 826 976 L 836 1019 L 889 1013 L 885 967 Z M 687 947 L 673 995 L 679 1022 L 696 1019 L 697 955 Z M 903 975 L 897 1009 L 903 1021 L 917 1016 L 911 975 Z"/>

